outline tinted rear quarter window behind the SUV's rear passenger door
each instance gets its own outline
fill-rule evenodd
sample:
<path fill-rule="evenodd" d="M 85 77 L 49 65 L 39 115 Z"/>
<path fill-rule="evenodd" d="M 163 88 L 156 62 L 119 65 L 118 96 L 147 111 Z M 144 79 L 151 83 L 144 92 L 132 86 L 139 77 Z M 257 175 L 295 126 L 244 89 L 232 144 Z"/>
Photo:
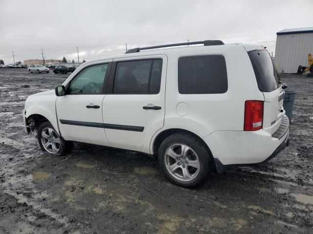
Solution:
<path fill-rule="evenodd" d="M 181 57 L 178 60 L 180 94 L 223 94 L 227 91 L 226 62 L 223 55 Z"/>

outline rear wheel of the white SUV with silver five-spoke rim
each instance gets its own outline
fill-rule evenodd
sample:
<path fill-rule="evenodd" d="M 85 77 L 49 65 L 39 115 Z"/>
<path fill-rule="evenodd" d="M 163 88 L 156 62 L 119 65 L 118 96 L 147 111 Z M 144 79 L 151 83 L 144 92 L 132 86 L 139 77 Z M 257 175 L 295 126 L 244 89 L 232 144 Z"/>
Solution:
<path fill-rule="evenodd" d="M 181 154 L 181 151 L 185 154 Z M 213 157 L 203 143 L 185 133 L 173 134 L 163 140 L 157 158 L 164 175 L 172 183 L 185 188 L 193 188 L 205 182 L 213 165 Z"/>

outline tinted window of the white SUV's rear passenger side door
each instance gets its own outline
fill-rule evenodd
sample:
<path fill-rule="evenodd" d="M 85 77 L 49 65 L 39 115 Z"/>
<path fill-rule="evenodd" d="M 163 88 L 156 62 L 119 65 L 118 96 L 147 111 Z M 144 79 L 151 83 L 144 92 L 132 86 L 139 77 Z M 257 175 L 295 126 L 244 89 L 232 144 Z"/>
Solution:
<path fill-rule="evenodd" d="M 156 94 L 160 89 L 162 59 L 117 62 L 113 93 Z"/>

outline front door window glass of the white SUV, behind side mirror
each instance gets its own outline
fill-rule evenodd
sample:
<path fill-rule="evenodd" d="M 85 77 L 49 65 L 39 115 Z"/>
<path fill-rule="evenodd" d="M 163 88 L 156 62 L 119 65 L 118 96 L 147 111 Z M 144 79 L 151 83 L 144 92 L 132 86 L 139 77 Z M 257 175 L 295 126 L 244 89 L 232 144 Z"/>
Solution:
<path fill-rule="evenodd" d="M 69 85 L 69 94 L 101 94 L 108 64 L 90 66 L 81 71 Z"/>

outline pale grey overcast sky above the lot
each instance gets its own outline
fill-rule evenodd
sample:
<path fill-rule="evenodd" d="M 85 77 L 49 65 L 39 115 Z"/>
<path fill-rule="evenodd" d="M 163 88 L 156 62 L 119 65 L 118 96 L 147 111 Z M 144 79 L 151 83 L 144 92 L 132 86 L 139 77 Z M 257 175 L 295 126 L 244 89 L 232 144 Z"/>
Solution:
<path fill-rule="evenodd" d="M 189 39 L 259 43 L 310 27 L 313 0 L 0 0 L 0 59 L 96 59 Z M 107 52 L 111 50 L 111 52 Z M 76 53 L 75 53 L 76 52 Z"/>

